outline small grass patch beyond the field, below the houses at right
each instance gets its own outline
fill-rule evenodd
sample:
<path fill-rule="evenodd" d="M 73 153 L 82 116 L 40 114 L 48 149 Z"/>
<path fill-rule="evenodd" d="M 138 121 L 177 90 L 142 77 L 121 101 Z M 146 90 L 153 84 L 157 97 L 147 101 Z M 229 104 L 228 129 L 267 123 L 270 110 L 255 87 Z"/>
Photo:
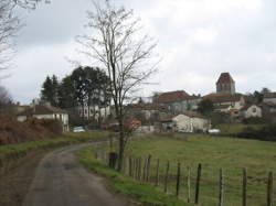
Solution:
<path fill-rule="evenodd" d="M 253 128 L 255 130 L 261 130 L 264 124 L 244 124 L 244 123 L 221 123 L 215 126 L 215 128 L 221 130 L 223 134 L 235 134 L 241 133 L 245 128 Z"/>

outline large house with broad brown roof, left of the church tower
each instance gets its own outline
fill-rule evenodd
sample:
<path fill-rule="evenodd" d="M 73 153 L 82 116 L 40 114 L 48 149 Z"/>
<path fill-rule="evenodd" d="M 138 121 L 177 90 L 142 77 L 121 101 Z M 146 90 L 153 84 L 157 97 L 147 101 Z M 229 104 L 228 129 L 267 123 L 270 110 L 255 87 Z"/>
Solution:
<path fill-rule="evenodd" d="M 200 101 L 200 96 L 191 96 L 184 90 L 162 93 L 153 100 L 153 102 L 164 106 L 171 113 L 195 111 Z"/>

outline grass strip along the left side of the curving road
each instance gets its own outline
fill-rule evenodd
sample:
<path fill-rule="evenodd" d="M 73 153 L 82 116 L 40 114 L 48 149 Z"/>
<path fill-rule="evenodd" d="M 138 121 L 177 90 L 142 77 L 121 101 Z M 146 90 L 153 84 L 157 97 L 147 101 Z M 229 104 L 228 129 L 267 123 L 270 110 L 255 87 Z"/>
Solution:
<path fill-rule="evenodd" d="M 82 133 L 73 133 L 67 132 L 61 137 L 52 138 L 52 139 L 43 139 L 38 141 L 29 141 L 19 144 L 9 144 L 0 147 L 0 159 L 3 160 L 7 156 L 11 156 L 13 154 L 24 154 L 25 152 L 41 149 L 41 148 L 56 148 L 66 144 L 81 143 L 87 140 L 103 139 L 112 133 L 103 132 L 103 131 L 93 131 L 93 132 L 82 132 Z"/>

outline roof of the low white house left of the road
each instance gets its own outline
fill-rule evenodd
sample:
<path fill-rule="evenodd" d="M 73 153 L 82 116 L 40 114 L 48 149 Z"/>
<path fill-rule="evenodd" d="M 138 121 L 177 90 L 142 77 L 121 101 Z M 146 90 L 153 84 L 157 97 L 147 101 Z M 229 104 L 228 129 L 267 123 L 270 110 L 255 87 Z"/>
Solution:
<path fill-rule="evenodd" d="M 67 111 L 53 106 L 35 105 L 26 109 L 25 111 L 22 111 L 18 116 L 52 115 L 52 113 L 67 113 Z"/>

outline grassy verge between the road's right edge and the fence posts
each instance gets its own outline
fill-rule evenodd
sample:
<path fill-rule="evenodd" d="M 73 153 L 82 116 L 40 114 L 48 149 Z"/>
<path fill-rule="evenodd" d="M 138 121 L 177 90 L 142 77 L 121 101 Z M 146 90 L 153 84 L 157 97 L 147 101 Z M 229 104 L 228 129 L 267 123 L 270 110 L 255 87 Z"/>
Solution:
<path fill-rule="evenodd" d="M 178 199 L 172 195 L 162 193 L 160 189 L 150 184 L 134 181 L 132 178 L 125 176 L 115 170 L 108 169 L 95 159 L 93 147 L 81 149 L 77 152 L 77 158 L 86 167 L 107 177 L 113 189 L 129 195 L 139 203 L 145 205 L 191 205 Z"/>

